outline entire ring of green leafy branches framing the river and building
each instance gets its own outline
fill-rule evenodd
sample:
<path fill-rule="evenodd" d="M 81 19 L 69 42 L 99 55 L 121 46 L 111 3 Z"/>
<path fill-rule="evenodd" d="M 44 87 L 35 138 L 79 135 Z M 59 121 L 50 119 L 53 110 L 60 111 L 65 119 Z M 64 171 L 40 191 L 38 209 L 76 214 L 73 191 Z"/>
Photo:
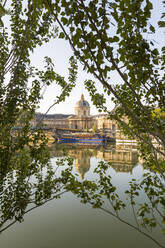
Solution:
<path fill-rule="evenodd" d="M 12 0 L 10 11 L 6 11 L 5 3 L 0 1 L 1 231 L 8 227 L 2 229 L 8 220 L 22 221 L 23 215 L 30 211 L 29 203 L 35 208 L 65 191 L 72 191 L 83 203 L 100 208 L 141 233 L 144 233 L 141 225 L 149 229 L 157 225 L 155 211 L 164 223 L 164 214 L 159 208 L 164 210 L 165 204 L 165 47 L 157 47 L 152 39 L 156 27 L 150 24 L 151 1 Z M 10 28 L 4 22 L 4 14 L 9 14 Z M 159 26 L 164 27 L 162 19 Z M 31 65 L 30 55 L 35 48 L 57 35 L 68 40 L 74 51 L 75 57 L 70 59 L 69 83 L 55 72 L 48 57 L 42 70 Z M 75 58 L 83 64 L 84 70 L 95 76 L 105 94 L 114 101 L 116 111 L 110 113 L 110 118 L 118 121 L 127 135 L 136 138 L 145 166 L 153 170 L 153 175 L 146 174 L 140 183 L 132 181 L 126 191 L 133 213 L 135 198 L 141 188 L 147 196 L 147 202 L 141 203 L 136 211 L 140 217 L 140 223 L 136 218 L 136 227 L 119 216 L 126 204 L 116 193 L 106 164 L 101 162 L 96 168 L 99 176 L 96 182 L 79 182 L 70 167 L 61 173 L 61 177 L 54 178 L 42 128 L 31 131 L 30 121 L 43 87 L 54 81 L 61 86 L 62 93 L 54 106 L 64 101 L 75 86 Z M 120 76 L 120 83 L 111 79 L 113 71 Z M 107 111 L 105 97 L 95 82 L 86 80 L 84 84 L 95 106 L 100 111 Z M 160 109 L 160 113 L 156 109 Z M 17 130 L 18 125 L 20 129 Z M 57 165 L 65 162 L 64 159 Z M 68 160 L 68 163 L 70 165 L 72 161 Z M 43 178 L 45 166 L 47 174 Z M 32 175 L 35 182 L 31 180 Z M 103 207 L 105 198 L 112 211 Z"/>

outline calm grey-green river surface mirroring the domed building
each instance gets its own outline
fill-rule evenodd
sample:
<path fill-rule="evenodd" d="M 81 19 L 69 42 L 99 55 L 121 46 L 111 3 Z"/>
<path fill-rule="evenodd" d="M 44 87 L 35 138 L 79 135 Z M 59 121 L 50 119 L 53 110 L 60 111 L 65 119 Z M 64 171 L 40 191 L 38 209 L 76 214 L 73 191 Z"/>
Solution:
<path fill-rule="evenodd" d="M 98 161 L 112 163 L 110 175 L 122 197 L 132 178 L 140 179 L 144 169 L 140 165 L 136 149 L 116 145 L 109 147 L 52 146 L 52 164 L 62 157 L 62 149 L 74 158 L 74 170 L 79 178 L 93 178 L 93 169 Z M 143 196 L 142 196 L 143 197 Z M 131 206 L 123 213 L 131 220 Z M 165 244 L 160 229 L 150 233 Z M 121 223 L 113 216 L 90 205 L 80 203 L 72 193 L 34 209 L 0 235 L 1 248 L 156 248 L 152 240 Z"/>

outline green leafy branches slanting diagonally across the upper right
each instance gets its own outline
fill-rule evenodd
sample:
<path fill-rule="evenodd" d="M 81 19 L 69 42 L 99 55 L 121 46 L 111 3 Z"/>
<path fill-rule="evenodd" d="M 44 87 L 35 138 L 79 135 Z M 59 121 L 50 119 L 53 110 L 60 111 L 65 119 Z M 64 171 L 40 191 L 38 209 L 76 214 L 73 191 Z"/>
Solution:
<path fill-rule="evenodd" d="M 47 0 L 45 7 L 61 29 L 59 38 L 68 40 L 84 70 L 97 79 L 116 104 L 110 117 L 119 122 L 125 134 L 138 140 L 143 153 L 153 154 L 163 174 L 157 161 L 160 154 L 165 155 L 164 119 L 153 118 L 153 112 L 156 108 L 165 111 L 165 57 L 164 47 L 158 47 L 152 38 L 156 32 L 150 23 L 152 2 Z M 113 71 L 120 82 L 112 79 Z M 107 111 L 96 83 L 86 80 L 85 86 L 94 105 Z M 162 149 L 154 145 L 153 139 Z"/>

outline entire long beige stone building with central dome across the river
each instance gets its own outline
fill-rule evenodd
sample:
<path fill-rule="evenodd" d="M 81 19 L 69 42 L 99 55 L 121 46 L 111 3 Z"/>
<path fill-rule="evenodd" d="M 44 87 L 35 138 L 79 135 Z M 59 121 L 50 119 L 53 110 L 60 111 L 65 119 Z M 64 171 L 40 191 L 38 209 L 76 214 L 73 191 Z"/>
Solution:
<path fill-rule="evenodd" d="M 75 104 L 75 114 L 47 114 L 36 113 L 34 120 L 31 122 L 32 127 L 36 127 L 40 120 L 51 129 L 88 131 L 96 126 L 97 130 L 108 131 L 114 137 L 116 134 L 117 124 L 114 120 L 108 118 L 107 114 L 90 115 L 90 105 L 85 100 L 84 95 Z M 42 117 L 42 118 L 41 118 Z"/>

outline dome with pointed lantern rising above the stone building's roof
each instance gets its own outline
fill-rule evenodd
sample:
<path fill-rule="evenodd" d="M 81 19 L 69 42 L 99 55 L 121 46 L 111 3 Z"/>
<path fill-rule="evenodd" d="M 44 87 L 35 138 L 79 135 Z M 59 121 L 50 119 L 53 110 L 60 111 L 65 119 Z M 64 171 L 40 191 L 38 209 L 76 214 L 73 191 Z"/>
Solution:
<path fill-rule="evenodd" d="M 84 100 L 84 95 L 81 95 L 81 99 L 75 105 L 75 114 L 81 117 L 90 116 L 90 105 Z"/>

